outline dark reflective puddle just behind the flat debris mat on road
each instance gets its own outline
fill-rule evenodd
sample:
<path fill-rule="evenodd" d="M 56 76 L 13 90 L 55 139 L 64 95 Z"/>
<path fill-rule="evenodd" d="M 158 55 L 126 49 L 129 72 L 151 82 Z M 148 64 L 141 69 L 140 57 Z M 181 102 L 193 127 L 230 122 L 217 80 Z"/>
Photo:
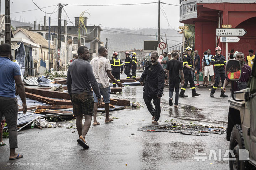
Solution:
<path fill-rule="evenodd" d="M 191 117 L 204 119 L 205 116 L 201 114 L 203 109 L 191 106 L 191 105 L 179 105 L 179 108 L 169 108 L 170 117 Z"/>

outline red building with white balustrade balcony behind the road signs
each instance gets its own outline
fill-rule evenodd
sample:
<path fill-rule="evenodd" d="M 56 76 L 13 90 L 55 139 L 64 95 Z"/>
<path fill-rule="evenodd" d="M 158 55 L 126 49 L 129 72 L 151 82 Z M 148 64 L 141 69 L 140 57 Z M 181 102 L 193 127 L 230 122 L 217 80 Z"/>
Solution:
<path fill-rule="evenodd" d="M 255 0 L 181 0 L 180 22 L 195 25 L 195 50 L 201 56 L 204 51 L 215 47 L 222 48 L 226 55 L 225 43 L 216 37 L 216 28 L 232 25 L 232 28 L 244 28 L 248 33 L 239 37 L 237 43 L 228 43 L 228 51 L 234 49 L 248 55 L 248 50 L 256 50 L 256 1 Z M 229 28 L 226 28 L 229 29 Z"/>

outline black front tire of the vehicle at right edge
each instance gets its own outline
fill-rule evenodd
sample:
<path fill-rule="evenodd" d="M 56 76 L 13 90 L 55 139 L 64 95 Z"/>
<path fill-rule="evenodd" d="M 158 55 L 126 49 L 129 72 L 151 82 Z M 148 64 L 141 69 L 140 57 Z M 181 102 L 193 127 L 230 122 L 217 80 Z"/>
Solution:
<path fill-rule="evenodd" d="M 236 124 L 231 132 L 229 149 L 233 150 L 236 160 L 229 161 L 230 170 L 247 170 L 246 165 L 248 161 L 239 161 L 239 149 L 245 149 L 244 136 L 242 132 L 242 127 L 240 124 Z M 233 158 L 231 153 L 229 153 L 229 158 Z"/>

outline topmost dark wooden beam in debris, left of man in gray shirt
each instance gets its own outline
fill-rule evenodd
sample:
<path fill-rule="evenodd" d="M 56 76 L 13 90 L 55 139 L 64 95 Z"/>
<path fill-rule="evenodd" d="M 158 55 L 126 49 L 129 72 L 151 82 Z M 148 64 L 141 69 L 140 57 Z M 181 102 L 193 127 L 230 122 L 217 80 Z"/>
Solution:
<path fill-rule="evenodd" d="M 36 88 L 28 88 L 28 87 L 25 87 L 25 91 L 28 93 L 40 95 L 43 97 L 52 97 L 52 98 L 70 100 L 69 94 L 65 92 L 50 91 L 45 89 L 36 89 Z"/>

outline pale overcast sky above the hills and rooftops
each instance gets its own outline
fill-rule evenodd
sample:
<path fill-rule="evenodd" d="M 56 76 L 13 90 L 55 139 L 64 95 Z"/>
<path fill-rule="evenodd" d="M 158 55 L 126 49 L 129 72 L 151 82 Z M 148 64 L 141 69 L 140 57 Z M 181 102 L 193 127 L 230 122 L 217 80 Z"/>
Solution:
<path fill-rule="evenodd" d="M 43 8 L 42 10 L 47 13 L 52 13 L 58 9 L 57 4 L 86 4 L 86 5 L 106 5 L 106 4 L 132 4 L 132 3 L 148 3 L 158 2 L 157 0 L 34 0 L 37 6 L 40 8 L 56 5 L 52 7 Z M 179 0 L 161 0 L 168 4 L 179 5 Z M 16 21 L 32 22 L 37 21 L 36 24 L 43 25 L 44 12 L 37 9 L 35 4 L 31 0 L 10 0 L 11 5 L 11 18 Z M 55 9 L 55 10 L 54 10 Z M 65 6 L 65 11 L 70 20 L 74 22 L 74 17 L 79 16 L 82 11 L 88 9 L 90 15 L 86 14 L 88 24 L 95 24 L 110 28 L 157 28 L 158 26 L 158 4 L 142 4 L 142 5 L 124 5 L 124 6 Z M 166 13 L 169 24 L 163 13 L 161 13 L 161 28 L 178 29 L 179 23 L 179 6 L 162 4 L 161 9 Z M 26 10 L 33 10 L 28 12 L 20 12 Z M 14 13 L 20 12 L 20 13 Z M 4 14 L 4 0 L 1 1 L 1 14 Z M 62 19 L 65 19 L 66 13 L 62 11 Z M 50 15 L 46 14 L 46 18 Z M 51 15 L 51 25 L 57 25 L 58 12 Z M 69 23 L 67 18 L 68 25 Z M 47 23 L 48 25 L 48 23 Z"/>

